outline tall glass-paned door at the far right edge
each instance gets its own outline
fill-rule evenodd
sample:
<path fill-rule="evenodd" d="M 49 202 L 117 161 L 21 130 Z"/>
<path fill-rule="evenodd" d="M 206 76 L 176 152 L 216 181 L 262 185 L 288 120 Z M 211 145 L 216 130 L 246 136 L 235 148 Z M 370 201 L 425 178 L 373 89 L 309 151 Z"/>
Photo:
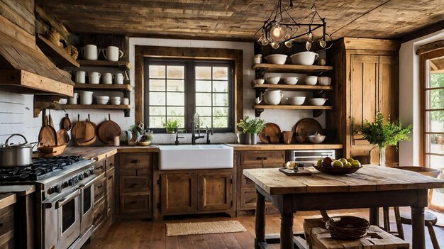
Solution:
<path fill-rule="evenodd" d="M 424 87 L 424 163 L 426 167 L 440 170 L 444 178 L 444 52 L 425 62 Z M 433 209 L 444 211 L 444 189 L 433 189 L 429 196 Z"/>

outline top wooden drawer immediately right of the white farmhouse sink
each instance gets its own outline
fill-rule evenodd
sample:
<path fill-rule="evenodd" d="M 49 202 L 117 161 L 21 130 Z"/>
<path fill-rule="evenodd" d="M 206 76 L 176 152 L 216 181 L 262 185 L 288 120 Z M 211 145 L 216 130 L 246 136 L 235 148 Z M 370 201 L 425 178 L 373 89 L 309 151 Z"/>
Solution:
<path fill-rule="evenodd" d="M 240 164 L 246 165 L 283 165 L 285 163 L 284 150 L 277 151 L 250 151 L 240 153 Z"/>

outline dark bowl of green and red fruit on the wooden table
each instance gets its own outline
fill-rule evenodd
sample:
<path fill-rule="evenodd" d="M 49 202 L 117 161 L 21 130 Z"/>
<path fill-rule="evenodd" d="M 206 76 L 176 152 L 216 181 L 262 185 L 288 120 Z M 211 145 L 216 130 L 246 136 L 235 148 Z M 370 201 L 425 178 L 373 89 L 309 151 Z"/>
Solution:
<path fill-rule="evenodd" d="M 319 159 L 313 167 L 328 175 L 351 174 L 362 168 L 361 163 L 353 158 L 340 158 L 339 160 L 324 157 Z"/>

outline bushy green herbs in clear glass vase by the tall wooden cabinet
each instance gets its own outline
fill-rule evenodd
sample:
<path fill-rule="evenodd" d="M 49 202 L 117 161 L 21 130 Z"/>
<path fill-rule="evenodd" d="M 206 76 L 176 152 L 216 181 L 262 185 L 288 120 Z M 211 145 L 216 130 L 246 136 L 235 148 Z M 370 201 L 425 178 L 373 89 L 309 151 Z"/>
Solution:
<path fill-rule="evenodd" d="M 379 147 L 379 165 L 385 166 L 385 148 L 387 145 L 398 146 L 399 141 L 410 140 L 412 126 L 403 127 L 401 121 L 384 122 L 384 116 L 378 112 L 374 122 L 365 121 L 364 125 L 358 128 L 362 136 L 372 145 Z"/>

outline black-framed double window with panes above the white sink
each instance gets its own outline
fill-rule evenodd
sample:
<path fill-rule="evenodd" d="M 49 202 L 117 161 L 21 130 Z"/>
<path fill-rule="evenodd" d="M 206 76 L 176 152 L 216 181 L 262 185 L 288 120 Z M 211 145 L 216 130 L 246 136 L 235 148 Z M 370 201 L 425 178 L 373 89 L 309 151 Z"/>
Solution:
<path fill-rule="evenodd" d="M 194 113 L 201 128 L 233 132 L 233 62 L 145 59 L 145 125 L 165 132 L 167 121 L 191 130 Z"/>

